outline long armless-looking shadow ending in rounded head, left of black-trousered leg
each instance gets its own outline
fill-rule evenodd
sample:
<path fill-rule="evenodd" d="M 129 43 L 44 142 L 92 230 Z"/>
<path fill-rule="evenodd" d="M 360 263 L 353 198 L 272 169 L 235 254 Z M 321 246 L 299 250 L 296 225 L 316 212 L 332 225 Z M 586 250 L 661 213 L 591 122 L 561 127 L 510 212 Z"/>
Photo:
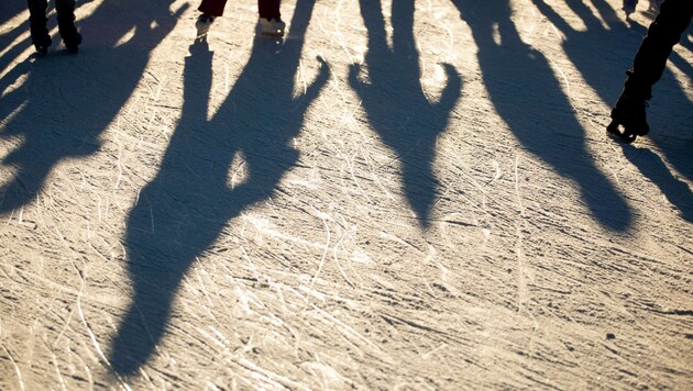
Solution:
<path fill-rule="evenodd" d="M 491 100 L 517 139 L 578 185 L 603 226 L 626 231 L 632 220 L 628 203 L 595 167 L 584 129 L 547 58 L 521 41 L 509 1 L 452 1 L 471 27 Z"/>

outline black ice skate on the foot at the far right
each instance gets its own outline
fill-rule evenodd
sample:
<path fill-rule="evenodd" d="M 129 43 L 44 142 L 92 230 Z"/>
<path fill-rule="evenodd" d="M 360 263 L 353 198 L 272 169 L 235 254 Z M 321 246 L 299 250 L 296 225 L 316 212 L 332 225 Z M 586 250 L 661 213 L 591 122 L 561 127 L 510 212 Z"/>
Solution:
<path fill-rule="evenodd" d="M 648 134 L 650 126 L 647 123 L 645 108 L 647 108 L 645 99 L 620 96 L 612 110 L 612 122 L 606 126 L 606 131 L 628 144 L 638 136 Z M 623 127 L 623 131 L 619 127 Z"/>

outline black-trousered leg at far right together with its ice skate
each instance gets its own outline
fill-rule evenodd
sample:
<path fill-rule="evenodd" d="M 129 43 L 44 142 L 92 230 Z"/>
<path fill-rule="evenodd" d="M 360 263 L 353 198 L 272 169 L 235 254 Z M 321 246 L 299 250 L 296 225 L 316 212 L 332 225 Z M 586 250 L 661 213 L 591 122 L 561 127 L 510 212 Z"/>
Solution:
<path fill-rule="evenodd" d="M 630 143 L 649 132 L 645 107 L 652 98 L 652 86 L 662 77 L 673 46 L 679 43 L 693 18 L 692 0 L 664 0 L 659 15 L 650 24 L 635 56 L 632 68 L 626 74 L 624 91 L 612 110 L 607 131 Z M 624 132 L 618 131 L 624 126 Z"/>

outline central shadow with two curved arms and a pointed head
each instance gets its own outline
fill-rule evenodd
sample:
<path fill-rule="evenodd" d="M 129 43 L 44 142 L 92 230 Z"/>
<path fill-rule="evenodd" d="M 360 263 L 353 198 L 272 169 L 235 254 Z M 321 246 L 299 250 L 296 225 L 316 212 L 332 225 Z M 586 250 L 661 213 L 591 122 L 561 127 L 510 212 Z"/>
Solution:
<path fill-rule="evenodd" d="M 433 174 L 436 141 L 446 131 L 457 104 L 462 79 L 450 64 L 443 64 L 447 85 L 437 102 L 421 87 L 419 53 L 414 37 L 414 0 L 392 2 L 392 47 L 387 44 L 380 0 L 361 0 L 361 15 L 367 29 L 367 71 L 352 65 L 349 82 L 361 98 L 369 122 L 402 165 L 404 194 L 427 228 L 438 193 Z M 367 76 L 366 76 L 367 75 Z M 366 76 L 367 80 L 363 80 Z"/>

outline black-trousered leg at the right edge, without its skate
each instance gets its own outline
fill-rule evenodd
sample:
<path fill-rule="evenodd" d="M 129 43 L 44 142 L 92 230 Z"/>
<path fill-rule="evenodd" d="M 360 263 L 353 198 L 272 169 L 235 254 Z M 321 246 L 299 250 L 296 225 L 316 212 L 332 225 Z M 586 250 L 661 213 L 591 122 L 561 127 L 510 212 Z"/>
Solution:
<path fill-rule="evenodd" d="M 662 77 L 667 59 L 692 15 L 691 0 L 666 0 L 662 3 L 636 54 L 632 69 L 628 71 L 624 94 L 645 100 L 652 98 L 652 86 Z"/>

